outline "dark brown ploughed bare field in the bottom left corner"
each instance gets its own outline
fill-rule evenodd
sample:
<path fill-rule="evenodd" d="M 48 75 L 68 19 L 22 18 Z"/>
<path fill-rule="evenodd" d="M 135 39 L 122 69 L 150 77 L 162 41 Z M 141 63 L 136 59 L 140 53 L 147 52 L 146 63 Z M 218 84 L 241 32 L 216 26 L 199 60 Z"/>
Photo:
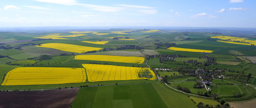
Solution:
<path fill-rule="evenodd" d="M 0 92 L 0 108 L 69 108 L 79 88 Z"/>

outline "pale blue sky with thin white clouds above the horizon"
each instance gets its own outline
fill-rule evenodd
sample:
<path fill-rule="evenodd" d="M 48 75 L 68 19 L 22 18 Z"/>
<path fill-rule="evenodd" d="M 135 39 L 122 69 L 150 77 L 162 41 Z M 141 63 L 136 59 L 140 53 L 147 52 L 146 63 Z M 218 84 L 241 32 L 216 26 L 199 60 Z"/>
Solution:
<path fill-rule="evenodd" d="M 0 27 L 256 27 L 256 0 L 0 0 Z"/>

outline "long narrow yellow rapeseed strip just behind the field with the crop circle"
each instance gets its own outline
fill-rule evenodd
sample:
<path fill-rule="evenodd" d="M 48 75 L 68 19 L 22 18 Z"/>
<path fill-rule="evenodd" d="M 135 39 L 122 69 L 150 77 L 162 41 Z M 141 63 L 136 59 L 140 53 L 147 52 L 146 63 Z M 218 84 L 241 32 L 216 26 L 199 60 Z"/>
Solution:
<path fill-rule="evenodd" d="M 145 58 L 144 57 L 113 56 L 113 55 L 76 55 L 74 60 L 111 61 L 111 62 L 142 64 L 144 62 Z"/>

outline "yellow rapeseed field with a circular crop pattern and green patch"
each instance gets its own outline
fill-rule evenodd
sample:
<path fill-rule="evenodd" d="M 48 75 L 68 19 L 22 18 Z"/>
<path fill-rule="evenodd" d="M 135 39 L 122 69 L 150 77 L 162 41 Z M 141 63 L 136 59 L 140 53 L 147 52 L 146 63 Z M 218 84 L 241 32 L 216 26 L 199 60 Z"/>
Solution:
<path fill-rule="evenodd" d="M 114 80 L 156 80 L 150 68 L 125 67 L 100 64 L 83 64 L 89 82 Z"/>

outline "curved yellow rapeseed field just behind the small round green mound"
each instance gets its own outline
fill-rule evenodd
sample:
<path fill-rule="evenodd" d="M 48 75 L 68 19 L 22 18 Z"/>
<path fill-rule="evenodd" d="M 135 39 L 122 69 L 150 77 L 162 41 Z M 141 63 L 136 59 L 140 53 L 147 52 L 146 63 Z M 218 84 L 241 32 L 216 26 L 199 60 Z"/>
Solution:
<path fill-rule="evenodd" d="M 75 52 L 75 53 L 83 53 L 83 52 L 93 51 L 93 50 L 98 51 L 102 49 L 98 47 L 85 47 L 85 46 L 63 44 L 63 43 L 47 43 L 47 44 L 41 44 L 41 46 L 36 46 L 36 47 L 48 47 L 48 48 L 54 48 L 62 51 Z"/>

